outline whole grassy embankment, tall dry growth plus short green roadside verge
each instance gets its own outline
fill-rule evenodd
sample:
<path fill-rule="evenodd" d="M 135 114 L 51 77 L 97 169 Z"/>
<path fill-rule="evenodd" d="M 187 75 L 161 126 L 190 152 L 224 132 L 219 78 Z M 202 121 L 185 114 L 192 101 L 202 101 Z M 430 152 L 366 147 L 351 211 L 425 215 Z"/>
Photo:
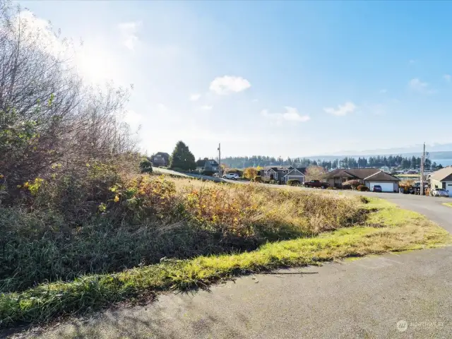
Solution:
<path fill-rule="evenodd" d="M 422 215 L 376 198 L 162 177 L 121 187 L 100 215 L 64 232 L 62 215 L 0 208 L 0 326 L 242 273 L 451 243 Z"/>

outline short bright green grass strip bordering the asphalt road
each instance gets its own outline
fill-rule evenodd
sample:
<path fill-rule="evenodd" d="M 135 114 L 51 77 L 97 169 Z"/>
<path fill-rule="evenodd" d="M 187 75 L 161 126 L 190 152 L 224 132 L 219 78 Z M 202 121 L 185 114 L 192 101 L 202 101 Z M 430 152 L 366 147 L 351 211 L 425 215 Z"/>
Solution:
<path fill-rule="evenodd" d="M 168 259 L 120 273 L 84 275 L 71 281 L 42 283 L 21 292 L 1 294 L 0 326 L 48 321 L 61 314 L 92 311 L 165 290 L 203 288 L 244 273 L 317 265 L 347 256 L 424 249 L 452 242 L 448 232 L 418 213 L 378 198 L 355 198 L 354 203 L 367 212 L 367 218 L 350 227 L 268 242 L 254 251 Z"/>

